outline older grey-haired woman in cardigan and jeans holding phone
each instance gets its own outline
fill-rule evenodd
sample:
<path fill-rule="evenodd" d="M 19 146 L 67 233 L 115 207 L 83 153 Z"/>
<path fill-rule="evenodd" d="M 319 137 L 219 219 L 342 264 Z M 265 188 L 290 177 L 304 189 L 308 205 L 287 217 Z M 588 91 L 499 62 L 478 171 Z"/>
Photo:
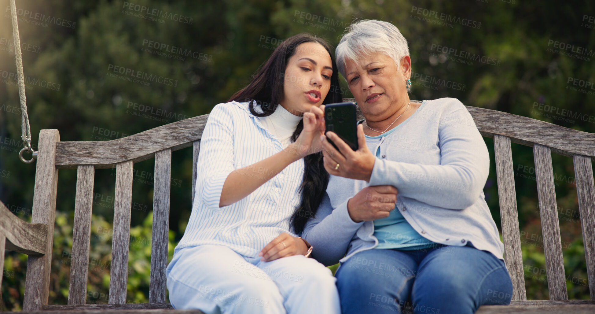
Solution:
<path fill-rule="evenodd" d="M 474 313 L 509 304 L 503 244 L 484 200 L 489 156 L 455 98 L 409 100 L 407 41 L 390 23 L 362 20 L 336 49 L 365 119 L 359 150 L 324 136 L 330 181 L 302 233 L 325 265 L 340 262 L 343 313 Z"/>

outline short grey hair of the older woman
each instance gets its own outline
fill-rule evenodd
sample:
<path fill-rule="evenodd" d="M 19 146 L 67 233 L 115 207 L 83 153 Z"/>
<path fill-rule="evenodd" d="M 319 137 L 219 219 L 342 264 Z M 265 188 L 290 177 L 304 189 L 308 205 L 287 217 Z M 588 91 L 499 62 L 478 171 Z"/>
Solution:
<path fill-rule="evenodd" d="M 379 20 L 360 20 L 349 26 L 339 45 L 335 49 L 337 67 L 345 76 L 345 59 L 358 60 L 364 55 L 375 52 L 393 58 L 399 69 L 401 58 L 409 55 L 407 40 L 396 26 L 389 22 Z"/>

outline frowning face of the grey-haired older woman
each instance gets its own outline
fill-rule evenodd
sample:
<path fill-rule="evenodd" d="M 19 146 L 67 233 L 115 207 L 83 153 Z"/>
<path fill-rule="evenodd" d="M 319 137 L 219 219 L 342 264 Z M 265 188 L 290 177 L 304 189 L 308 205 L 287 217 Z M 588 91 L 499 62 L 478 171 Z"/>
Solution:
<path fill-rule="evenodd" d="M 364 55 L 359 60 L 345 60 L 347 84 L 367 116 L 378 116 L 374 120 L 383 120 L 391 116 L 408 99 L 406 81 L 411 71 L 411 59 L 403 57 L 400 68 L 393 58 L 382 52 Z M 384 117 L 386 116 L 386 117 Z"/>

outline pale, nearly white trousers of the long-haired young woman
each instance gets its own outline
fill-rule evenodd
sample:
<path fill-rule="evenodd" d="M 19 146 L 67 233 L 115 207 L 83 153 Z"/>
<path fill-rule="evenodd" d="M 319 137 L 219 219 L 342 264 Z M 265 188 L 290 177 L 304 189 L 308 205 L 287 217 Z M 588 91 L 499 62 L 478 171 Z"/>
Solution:
<path fill-rule="evenodd" d="M 303 255 L 262 262 L 223 245 L 177 252 L 167 267 L 176 309 L 220 313 L 340 313 L 330 269 Z"/>

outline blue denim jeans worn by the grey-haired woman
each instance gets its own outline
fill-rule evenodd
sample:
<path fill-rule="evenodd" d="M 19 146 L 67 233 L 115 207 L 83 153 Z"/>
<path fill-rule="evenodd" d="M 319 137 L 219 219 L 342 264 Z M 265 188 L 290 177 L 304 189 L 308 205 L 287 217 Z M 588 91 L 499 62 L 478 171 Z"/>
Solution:
<path fill-rule="evenodd" d="M 337 270 L 343 313 L 475 313 L 509 304 L 512 281 L 503 260 L 470 245 L 361 251 Z"/>

